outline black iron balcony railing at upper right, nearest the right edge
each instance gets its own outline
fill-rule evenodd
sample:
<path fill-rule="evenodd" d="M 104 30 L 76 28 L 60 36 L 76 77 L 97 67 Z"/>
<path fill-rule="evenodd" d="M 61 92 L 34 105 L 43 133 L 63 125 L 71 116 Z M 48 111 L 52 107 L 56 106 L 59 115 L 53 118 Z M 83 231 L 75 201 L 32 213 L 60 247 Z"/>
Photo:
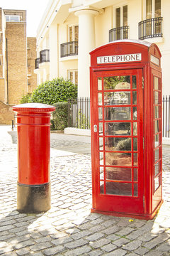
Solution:
<path fill-rule="evenodd" d="M 139 39 L 162 37 L 162 17 L 139 22 Z"/>

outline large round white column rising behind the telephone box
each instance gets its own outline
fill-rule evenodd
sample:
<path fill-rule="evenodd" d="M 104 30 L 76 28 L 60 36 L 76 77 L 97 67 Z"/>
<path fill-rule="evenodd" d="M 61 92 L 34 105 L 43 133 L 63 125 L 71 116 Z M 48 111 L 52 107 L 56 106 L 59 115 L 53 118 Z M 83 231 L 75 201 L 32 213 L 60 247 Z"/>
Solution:
<path fill-rule="evenodd" d="M 78 97 L 89 97 L 89 52 L 96 47 L 94 16 L 98 11 L 86 9 L 76 11 L 75 15 L 79 17 Z"/>

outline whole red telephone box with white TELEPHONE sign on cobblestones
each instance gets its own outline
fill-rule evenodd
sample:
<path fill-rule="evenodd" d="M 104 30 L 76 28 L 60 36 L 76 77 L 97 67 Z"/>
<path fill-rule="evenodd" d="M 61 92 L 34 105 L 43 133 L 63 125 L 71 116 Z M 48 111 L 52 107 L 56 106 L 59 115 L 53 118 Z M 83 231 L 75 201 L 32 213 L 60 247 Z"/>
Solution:
<path fill-rule="evenodd" d="M 154 43 L 91 53 L 91 212 L 152 219 L 162 205 L 162 71 Z"/>

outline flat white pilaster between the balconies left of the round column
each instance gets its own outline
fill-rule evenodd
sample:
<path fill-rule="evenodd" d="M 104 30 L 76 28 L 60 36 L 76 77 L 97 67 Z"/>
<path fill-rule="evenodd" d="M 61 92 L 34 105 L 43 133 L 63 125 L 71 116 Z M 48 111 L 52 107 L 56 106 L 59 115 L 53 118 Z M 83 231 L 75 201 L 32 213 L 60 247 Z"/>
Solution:
<path fill-rule="evenodd" d="M 50 26 L 50 80 L 58 76 L 57 24 Z"/>

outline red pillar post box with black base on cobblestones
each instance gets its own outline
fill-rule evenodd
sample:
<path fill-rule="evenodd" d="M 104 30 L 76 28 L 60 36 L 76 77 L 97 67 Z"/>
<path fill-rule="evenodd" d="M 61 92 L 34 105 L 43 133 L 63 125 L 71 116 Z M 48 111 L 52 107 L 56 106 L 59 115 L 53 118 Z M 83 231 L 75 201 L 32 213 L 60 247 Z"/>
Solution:
<path fill-rule="evenodd" d="M 50 113 L 39 103 L 16 105 L 18 132 L 17 210 L 41 213 L 50 209 Z"/>

